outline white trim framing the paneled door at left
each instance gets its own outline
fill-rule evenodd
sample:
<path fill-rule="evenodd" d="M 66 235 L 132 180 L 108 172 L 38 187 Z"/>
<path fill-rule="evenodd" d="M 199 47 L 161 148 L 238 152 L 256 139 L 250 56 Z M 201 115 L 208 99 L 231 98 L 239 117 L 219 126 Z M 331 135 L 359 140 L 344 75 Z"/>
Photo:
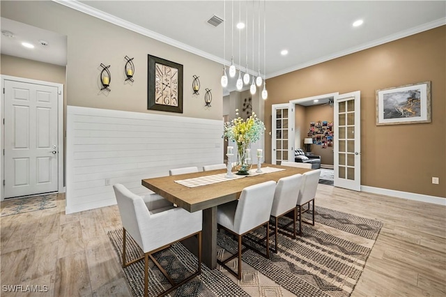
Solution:
<path fill-rule="evenodd" d="M 3 179 L 5 178 L 5 159 L 3 150 L 5 148 L 5 81 L 13 81 L 13 82 L 23 82 L 27 84 L 41 84 L 45 86 L 54 86 L 57 88 L 57 96 L 58 96 L 58 104 L 57 104 L 57 146 L 58 146 L 58 182 L 57 182 L 57 188 L 59 192 L 64 192 L 63 187 L 63 84 L 55 83 L 55 82 L 44 82 L 41 80 L 36 79 L 28 79 L 23 77 L 14 77 L 10 75 L 1 75 L 1 90 L 2 90 L 2 96 L 1 96 L 1 104 L 0 104 L 0 116 L 1 116 L 1 137 L 0 137 L 0 145 L 1 145 L 1 158 L 0 158 L 0 201 L 3 201 L 4 199 L 4 185 L 3 185 Z"/>

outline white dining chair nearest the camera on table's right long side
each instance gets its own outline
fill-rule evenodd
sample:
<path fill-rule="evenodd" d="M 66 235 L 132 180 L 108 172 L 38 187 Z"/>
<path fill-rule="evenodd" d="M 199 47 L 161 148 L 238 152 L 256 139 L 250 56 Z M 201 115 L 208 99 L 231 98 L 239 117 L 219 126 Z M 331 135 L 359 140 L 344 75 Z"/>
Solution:
<path fill-rule="evenodd" d="M 217 224 L 219 227 L 234 234 L 238 241 L 238 254 L 233 254 L 224 261 L 217 259 L 217 262 L 226 268 L 229 273 L 236 276 L 238 280 L 241 280 L 242 277 L 242 253 L 245 252 L 245 250 L 242 250 L 243 235 L 266 225 L 266 254 L 262 255 L 266 258 L 270 257 L 270 213 L 275 185 L 275 181 L 251 185 L 243 189 L 237 201 L 217 206 Z M 236 257 L 238 257 L 238 273 L 226 266 L 228 261 Z"/>

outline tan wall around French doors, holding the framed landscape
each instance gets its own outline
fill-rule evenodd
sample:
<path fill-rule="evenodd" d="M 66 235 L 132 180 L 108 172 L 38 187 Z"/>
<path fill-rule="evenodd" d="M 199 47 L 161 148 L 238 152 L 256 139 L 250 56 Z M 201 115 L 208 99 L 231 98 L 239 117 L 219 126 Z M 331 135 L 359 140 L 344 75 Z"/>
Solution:
<path fill-rule="evenodd" d="M 361 184 L 446 197 L 446 26 L 268 79 L 265 106 L 325 93 L 361 91 Z M 432 82 L 432 123 L 375 123 L 375 92 Z M 268 132 L 268 131 L 267 131 Z M 270 162 L 271 138 L 266 137 Z M 431 177 L 440 178 L 439 185 Z"/>

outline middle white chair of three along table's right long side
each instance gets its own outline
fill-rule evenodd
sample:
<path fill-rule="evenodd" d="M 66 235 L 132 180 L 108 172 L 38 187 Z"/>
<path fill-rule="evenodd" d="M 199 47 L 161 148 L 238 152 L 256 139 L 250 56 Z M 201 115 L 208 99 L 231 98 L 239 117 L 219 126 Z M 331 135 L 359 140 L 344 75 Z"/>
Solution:
<path fill-rule="evenodd" d="M 299 190 L 302 185 L 302 174 L 294 174 L 280 178 L 274 192 L 274 200 L 272 201 L 271 216 L 275 218 L 275 249 L 273 252 L 277 253 L 277 233 L 279 232 L 277 222 L 279 218 L 293 212 L 293 236 L 295 238 L 295 223 L 296 223 L 296 204 L 298 203 Z M 287 225 L 289 226 L 289 224 Z M 286 232 L 280 232 L 284 235 L 289 235 Z M 271 235 L 271 234 L 270 234 Z"/>

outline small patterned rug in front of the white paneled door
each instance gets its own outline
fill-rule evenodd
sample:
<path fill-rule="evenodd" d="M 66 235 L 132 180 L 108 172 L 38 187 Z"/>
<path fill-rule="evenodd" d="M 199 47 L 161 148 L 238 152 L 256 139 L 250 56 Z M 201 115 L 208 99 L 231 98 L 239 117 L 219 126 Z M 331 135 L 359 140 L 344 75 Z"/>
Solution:
<path fill-rule="evenodd" d="M 3 201 L 0 217 L 56 207 L 56 198 L 57 194 L 49 194 Z"/>

